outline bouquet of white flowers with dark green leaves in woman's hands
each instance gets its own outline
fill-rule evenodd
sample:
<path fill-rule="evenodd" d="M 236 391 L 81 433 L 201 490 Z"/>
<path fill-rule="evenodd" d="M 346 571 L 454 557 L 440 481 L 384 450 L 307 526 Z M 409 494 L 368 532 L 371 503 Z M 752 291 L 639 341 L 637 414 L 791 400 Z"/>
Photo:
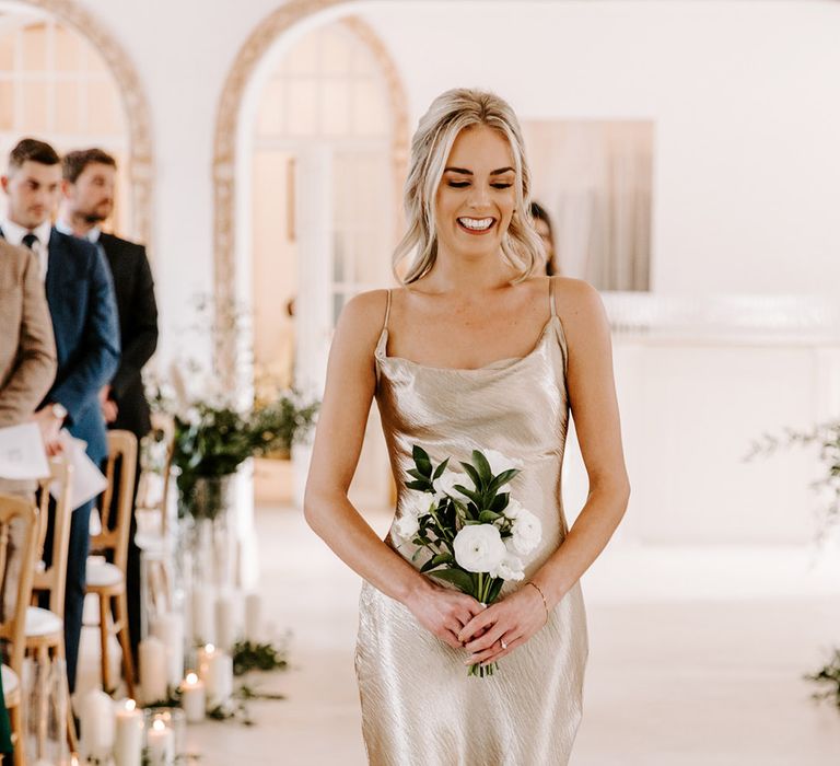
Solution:
<path fill-rule="evenodd" d="M 434 465 L 420 446 L 412 449 L 411 494 L 402 506 L 396 533 L 418 546 L 428 560 L 420 568 L 482 604 L 499 597 L 506 580 L 525 577 L 523 556 L 542 536 L 539 519 L 511 498 L 517 463 L 495 450 L 472 451 L 464 473 L 447 469 L 447 457 Z M 471 484 L 471 488 L 467 485 Z M 429 497 L 431 496 L 431 497 Z M 471 665 L 469 675 L 492 675 L 495 663 Z"/>

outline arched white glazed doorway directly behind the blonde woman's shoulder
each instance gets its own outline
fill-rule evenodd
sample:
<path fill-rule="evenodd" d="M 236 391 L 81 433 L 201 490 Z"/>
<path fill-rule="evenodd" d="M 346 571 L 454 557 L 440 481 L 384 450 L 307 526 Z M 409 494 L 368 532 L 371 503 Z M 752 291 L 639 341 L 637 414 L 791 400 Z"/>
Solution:
<path fill-rule="evenodd" d="M 276 16 L 265 22 L 272 23 Z M 258 61 L 246 45 L 237 62 L 250 72 L 233 80 L 238 119 L 232 120 L 230 90 L 220 111 L 220 129 L 226 125 L 235 140 L 217 135 L 217 307 L 245 304 L 253 322 L 218 339 L 218 374 L 249 388 L 253 348 L 262 391 L 267 380 L 283 386 L 294 346 L 294 384 L 319 396 L 341 306 L 390 281 L 408 143 L 405 97 L 385 47 L 358 19 L 310 19 L 269 39 L 260 27 L 252 37 Z M 232 152 L 226 158 L 219 155 L 223 148 Z M 294 321 L 287 314 L 292 298 Z M 269 496 L 279 490 L 288 499 L 296 485 L 300 497 L 304 452 L 292 476 L 288 465 L 275 467 Z M 266 469 L 272 473 L 260 464 L 258 474 Z M 387 463 L 374 440 L 360 461 L 354 497 L 370 507 L 389 496 Z"/>

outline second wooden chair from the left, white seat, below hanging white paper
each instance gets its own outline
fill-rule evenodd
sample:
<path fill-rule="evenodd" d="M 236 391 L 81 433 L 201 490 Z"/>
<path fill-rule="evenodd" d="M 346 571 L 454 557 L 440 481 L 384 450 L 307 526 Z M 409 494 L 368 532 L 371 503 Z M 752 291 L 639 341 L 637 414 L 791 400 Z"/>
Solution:
<path fill-rule="evenodd" d="M 35 661 L 46 668 L 51 657 L 66 661 L 65 652 L 65 587 L 67 584 L 67 557 L 70 545 L 70 520 L 73 509 L 70 507 L 73 486 L 73 466 L 61 457 L 50 460 L 50 476 L 40 481 L 40 510 L 37 523 L 37 546 L 35 572 L 32 581 L 33 605 L 26 610 L 26 651 Z M 52 526 L 52 550 L 50 565 L 44 564 L 44 543 L 47 536 L 49 488 L 56 496 L 55 521 Z M 49 595 L 48 608 L 36 605 L 40 593 Z M 67 676 L 65 676 L 67 683 Z M 70 689 L 66 687 L 67 698 Z M 75 752 L 75 723 L 68 705 L 67 739 L 70 750 Z"/>

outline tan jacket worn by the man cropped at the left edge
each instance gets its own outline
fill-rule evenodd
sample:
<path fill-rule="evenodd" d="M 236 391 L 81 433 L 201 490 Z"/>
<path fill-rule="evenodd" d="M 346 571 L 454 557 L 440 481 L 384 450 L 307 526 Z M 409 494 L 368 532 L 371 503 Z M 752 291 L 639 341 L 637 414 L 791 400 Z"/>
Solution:
<path fill-rule="evenodd" d="M 0 239 L 0 428 L 32 418 L 56 376 L 56 341 L 38 258 Z M 0 477 L 0 491 L 13 489 Z"/>

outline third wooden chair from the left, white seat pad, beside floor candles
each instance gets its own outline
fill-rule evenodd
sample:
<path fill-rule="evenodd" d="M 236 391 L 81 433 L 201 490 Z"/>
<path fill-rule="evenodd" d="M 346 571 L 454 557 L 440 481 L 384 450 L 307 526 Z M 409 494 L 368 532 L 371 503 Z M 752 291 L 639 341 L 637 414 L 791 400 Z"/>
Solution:
<path fill-rule="evenodd" d="M 108 662 L 108 636 L 114 631 L 122 649 L 122 669 L 128 695 L 135 696 L 135 663 L 131 642 L 128 637 L 128 602 L 126 600 L 126 562 L 128 559 L 128 535 L 131 524 L 135 471 L 137 461 L 137 438 L 130 431 L 108 431 L 108 463 L 105 472 L 108 486 L 102 496 L 102 532 L 91 537 L 91 553 L 110 554 L 113 562 L 88 560 L 88 592 L 94 593 L 100 602 L 100 640 L 102 645 L 102 687 L 110 685 Z M 117 473 L 119 464 L 119 473 Z M 118 487 L 116 513 L 112 514 L 115 479 Z M 112 518 L 114 517 L 114 518 Z M 116 606 L 116 622 L 112 620 L 112 605 Z"/>

